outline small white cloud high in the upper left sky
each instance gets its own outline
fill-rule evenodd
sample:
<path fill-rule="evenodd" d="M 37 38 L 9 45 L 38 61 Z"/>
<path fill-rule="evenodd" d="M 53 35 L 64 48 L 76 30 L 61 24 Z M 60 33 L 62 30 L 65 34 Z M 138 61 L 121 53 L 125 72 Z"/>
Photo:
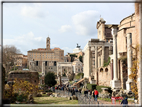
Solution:
<path fill-rule="evenodd" d="M 35 3 L 34 5 L 31 6 L 23 6 L 21 9 L 21 15 L 25 17 L 30 17 L 30 18 L 42 18 L 46 17 L 48 14 L 47 11 L 43 11 L 42 9 L 42 4 L 40 3 Z"/>

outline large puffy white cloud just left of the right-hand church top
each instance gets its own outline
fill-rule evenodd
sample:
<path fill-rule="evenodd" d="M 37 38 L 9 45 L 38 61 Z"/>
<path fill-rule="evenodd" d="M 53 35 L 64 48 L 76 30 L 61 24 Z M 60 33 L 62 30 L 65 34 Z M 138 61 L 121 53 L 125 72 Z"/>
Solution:
<path fill-rule="evenodd" d="M 94 10 L 84 11 L 72 17 L 78 35 L 94 35 L 97 33 L 96 23 L 98 20 L 99 13 Z"/>

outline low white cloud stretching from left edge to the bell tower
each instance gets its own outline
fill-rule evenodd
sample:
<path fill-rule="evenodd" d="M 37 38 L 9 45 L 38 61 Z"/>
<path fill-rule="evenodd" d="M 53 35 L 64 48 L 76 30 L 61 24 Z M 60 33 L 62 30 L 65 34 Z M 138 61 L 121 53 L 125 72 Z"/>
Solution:
<path fill-rule="evenodd" d="M 21 36 L 14 36 L 11 39 L 4 39 L 4 45 L 14 45 L 21 50 L 23 54 L 27 54 L 27 51 L 36 48 L 44 48 L 46 41 L 42 37 L 36 37 L 33 32 Z"/>

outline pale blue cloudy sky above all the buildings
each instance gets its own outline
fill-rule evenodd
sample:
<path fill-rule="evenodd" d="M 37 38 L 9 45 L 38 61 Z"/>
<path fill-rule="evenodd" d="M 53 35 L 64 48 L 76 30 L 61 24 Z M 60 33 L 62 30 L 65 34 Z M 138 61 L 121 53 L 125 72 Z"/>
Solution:
<path fill-rule="evenodd" d="M 119 24 L 134 13 L 133 3 L 4 3 L 3 45 L 14 45 L 21 53 L 59 47 L 72 53 L 77 43 L 81 49 L 88 40 L 97 39 L 100 17 L 106 24 Z"/>

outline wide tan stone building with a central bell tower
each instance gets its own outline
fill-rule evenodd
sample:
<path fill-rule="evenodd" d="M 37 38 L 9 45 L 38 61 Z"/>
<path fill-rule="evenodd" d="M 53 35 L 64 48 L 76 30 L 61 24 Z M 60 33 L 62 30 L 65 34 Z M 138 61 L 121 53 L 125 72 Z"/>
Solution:
<path fill-rule="evenodd" d="M 30 70 L 45 74 L 57 72 L 57 62 L 64 62 L 64 50 L 60 48 L 50 49 L 50 38 L 46 39 L 46 48 L 38 48 L 28 51 L 28 65 Z"/>

